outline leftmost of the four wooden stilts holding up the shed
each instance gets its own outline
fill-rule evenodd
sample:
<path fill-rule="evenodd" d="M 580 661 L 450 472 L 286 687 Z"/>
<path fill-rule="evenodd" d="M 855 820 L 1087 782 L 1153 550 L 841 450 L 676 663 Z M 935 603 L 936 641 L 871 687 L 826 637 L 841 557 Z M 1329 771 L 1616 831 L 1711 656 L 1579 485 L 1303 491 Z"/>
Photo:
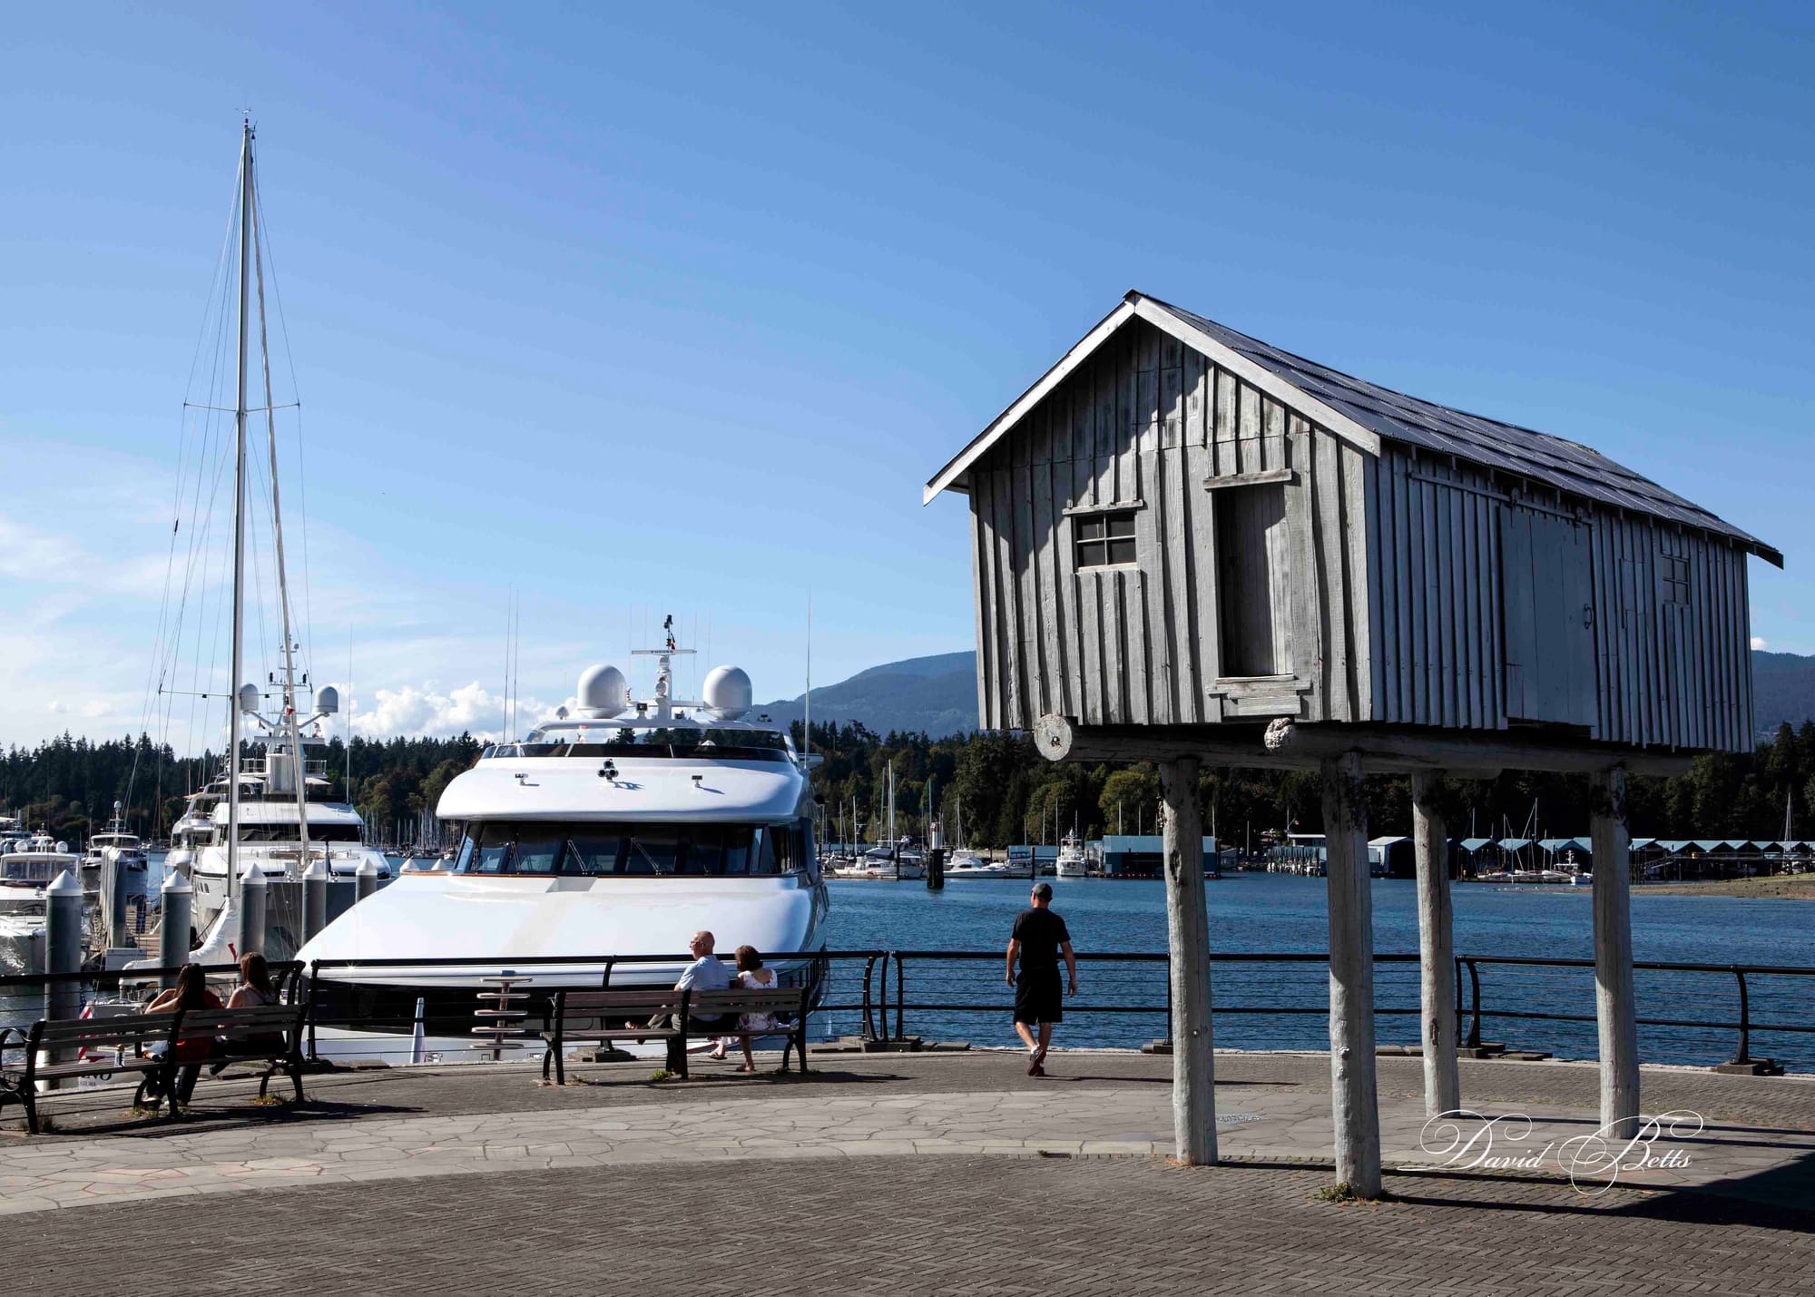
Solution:
<path fill-rule="evenodd" d="M 1172 1137 L 1187 1166 L 1216 1163 L 1211 914 L 1203 899 L 1198 761 L 1160 763 L 1165 797 L 1165 936 L 1172 955 Z"/>

